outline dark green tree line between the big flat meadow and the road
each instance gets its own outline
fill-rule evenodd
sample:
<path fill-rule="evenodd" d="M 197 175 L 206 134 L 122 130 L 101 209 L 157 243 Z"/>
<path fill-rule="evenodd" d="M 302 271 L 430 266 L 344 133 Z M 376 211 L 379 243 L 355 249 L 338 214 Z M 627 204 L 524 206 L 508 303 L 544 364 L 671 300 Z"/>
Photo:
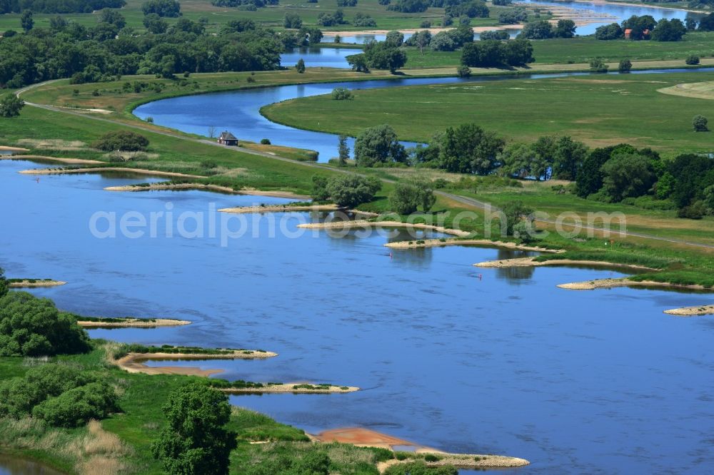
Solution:
<path fill-rule="evenodd" d="M 696 129 L 696 122 L 695 130 L 706 130 L 705 125 Z M 348 156 L 345 147 L 341 139 L 343 165 Z M 628 144 L 590 150 L 569 136 L 506 143 L 496 133 L 466 123 L 437 133 L 427 145 L 409 149 L 391 126 L 367 128 L 356 138 L 354 159 L 358 167 L 413 165 L 472 175 L 568 180 L 575 182 L 573 193 L 581 198 L 677 209 L 682 218 L 714 214 L 714 158 L 696 153 L 665 160 L 654 150 Z M 409 209 L 416 209 L 413 203 L 421 203 L 421 198 L 411 196 Z"/>

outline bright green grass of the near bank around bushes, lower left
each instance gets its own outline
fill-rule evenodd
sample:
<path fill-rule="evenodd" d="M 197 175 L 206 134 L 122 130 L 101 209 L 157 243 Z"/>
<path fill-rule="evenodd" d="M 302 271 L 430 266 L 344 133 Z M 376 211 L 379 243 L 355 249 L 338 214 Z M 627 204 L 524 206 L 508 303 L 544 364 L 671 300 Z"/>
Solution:
<path fill-rule="evenodd" d="M 0 449 L 44 461 L 68 474 L 164 474 L 159 461 L 151 455 L 151 443 L 159 437 L 165 424 L 161 407 L 171 392 L 201 378 L 124 372 L 106 363 L 104 349 L 99 346 L 102 342 L 95 342 L 98 348 L 89 354 L 60 356 L 53 360 L 97 372 L 118 389 L 121 412 L 101 422 L 101 428 L 109 434 L 101 429 L 99 434 L 95 431 L 90 435 L 85 427 L 53 429 L 28 419 L 0 418 Z M 38 363 L 21 357 L 0 357 L 0 380 L 21 376 L 32 364 Z M 339 453 L 341 457 L 331 458 L 336 464 L 334 469 L 347 470 L 343 473 L 378 474 L 375 466 L 361 466 L 354 461 L 375 461 L 377 454 L 381 454 L 376 449 L 343 444 L 306 446 L 308 439 L 302 430 L 238 407 L 233 409 L 228 427 L 238 432 L 238 449 L 231 453 L 231 474 L 245 473 L 246 464 L 260 464 L 275 456 L 276 451 L 293 448 L 296 454 L 315 450 Z M 267 447 L 251 444 L 251 441 L 277 444 Z M 119 466 L 124 467 L 121 472 L 116 470 Z"/>

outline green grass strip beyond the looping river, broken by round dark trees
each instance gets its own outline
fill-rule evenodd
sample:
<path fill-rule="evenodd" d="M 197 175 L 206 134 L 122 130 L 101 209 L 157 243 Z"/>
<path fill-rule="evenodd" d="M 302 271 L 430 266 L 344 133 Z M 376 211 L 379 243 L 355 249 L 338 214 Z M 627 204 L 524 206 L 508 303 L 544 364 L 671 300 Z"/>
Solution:
<path fill-rule="evenodd" d="M 714 31 L 693 31 L 685 34 L 682 41 L 629 41 L 597 40 L 593 36 L 571 39 L 533 40 L 535 65 L 543 63 L 587 63 L 593 58 L 617 62 L 684 60 L 692 54 L 700 58 L 714 56 Z M 409 68 L 436 68 L 457 66 L 461 63 L 461 51 L 431 51 L 422 54 L 418 48 L 407 48 Z"/>

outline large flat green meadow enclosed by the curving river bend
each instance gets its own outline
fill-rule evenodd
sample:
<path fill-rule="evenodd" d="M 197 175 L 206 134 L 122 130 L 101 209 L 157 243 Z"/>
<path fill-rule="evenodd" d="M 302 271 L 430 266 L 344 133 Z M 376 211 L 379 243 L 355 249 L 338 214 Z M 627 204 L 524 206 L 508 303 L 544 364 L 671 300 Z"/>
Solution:
<path fill-rule="evenodd" d="M 476 122 L 511 140 L 560 134 L 590 146 L 632 143 L 673 155 L 714 151 L 711 134 L 695 133 L 691 126 L 695 114 L 714 117 L 714 102 L 658 89 L 713 79 L 714 73 L 701 72 L 406 86 L 356 91 L 353 101 L 300 98 L 263 108 L 263 114 L 351 136 L 389 123 L 409 141 L 428 141 L 448 126 Z"/>

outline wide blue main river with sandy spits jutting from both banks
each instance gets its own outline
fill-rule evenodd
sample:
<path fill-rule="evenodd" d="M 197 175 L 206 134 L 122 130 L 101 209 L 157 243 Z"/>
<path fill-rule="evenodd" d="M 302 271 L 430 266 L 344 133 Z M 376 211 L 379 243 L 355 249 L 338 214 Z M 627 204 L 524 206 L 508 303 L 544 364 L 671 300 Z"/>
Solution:
<path fill-rule="evenodd" d="M 561 290 L 555 285 L 622 274 L 473 267 L 523 255 L 486 247 L 383 247 L 409 238 L 403 233 L 286 236 L 297 234 L 300 221 L 323 218 L 306 213 L 250 217 L 248 233 L 226 247 L 211 237 L 166 237 L 163 227 L 157 237 L 98 239 L 88 224 L 98 211 L 170 208 L 178 216 L 211 203 L 284 200 L 111 193 L 102 188 L 146 178 L 51 175 L 37 182 L 17 173 L 39 166 L 0 161 L 0 189 L 14 203 L 2 208 L 7 275 L 66 280 L 33 290 L 64 310 L 193 322 L 93 330 L 93 337 L 268 349 L 280 356 L 200 364 L 224 369 L 228 379 L 363 388 L 231 397 L 233 404 L 307 431 L 368 427 L 447 451 L 532 462 L 507 473 L 714 471 L 714 319 L 663 314 L 710 303 L 712 295 Z M 271 219 L 280 218 L 289 218 L 284 231 L 271 237 Z"/>

